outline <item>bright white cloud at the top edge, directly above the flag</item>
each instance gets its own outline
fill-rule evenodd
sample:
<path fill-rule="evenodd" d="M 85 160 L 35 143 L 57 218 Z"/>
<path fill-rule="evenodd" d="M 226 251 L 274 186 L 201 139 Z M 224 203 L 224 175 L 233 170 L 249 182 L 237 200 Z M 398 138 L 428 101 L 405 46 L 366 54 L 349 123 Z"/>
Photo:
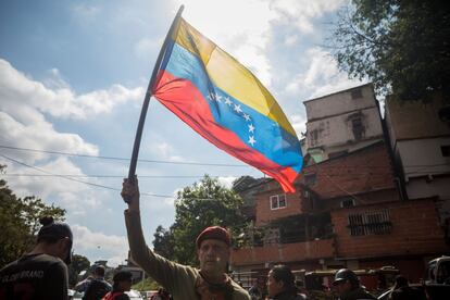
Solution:
<path fill-rule="evenodd" d="M 337 10 L 346 0 L 179 1 L 184 17 L 225 51 L 248 66 L 271 87 L 273 66 L 267 59 L 274 22 L 297 26 L 302 34 L 314 32 L 314 18 Z M 258 16 L 258 17 L 253 17 Z M 298 36 L 285 38 L 291 46 Z"/>

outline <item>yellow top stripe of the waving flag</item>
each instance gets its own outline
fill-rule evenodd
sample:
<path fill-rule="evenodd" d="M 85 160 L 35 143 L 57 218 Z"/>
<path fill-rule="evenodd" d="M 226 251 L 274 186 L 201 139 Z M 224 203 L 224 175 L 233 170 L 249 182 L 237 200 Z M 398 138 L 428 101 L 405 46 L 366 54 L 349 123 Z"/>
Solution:
<path fill-rule="evenodd" d="M 184 20 L 182 20 L 174 39 L 183 48 L 200 58 L 214 85 L 243 104 L 278 123 L 286 132 L 297 136 L 274 97 L 237 60 L 220 49 Z"/>

